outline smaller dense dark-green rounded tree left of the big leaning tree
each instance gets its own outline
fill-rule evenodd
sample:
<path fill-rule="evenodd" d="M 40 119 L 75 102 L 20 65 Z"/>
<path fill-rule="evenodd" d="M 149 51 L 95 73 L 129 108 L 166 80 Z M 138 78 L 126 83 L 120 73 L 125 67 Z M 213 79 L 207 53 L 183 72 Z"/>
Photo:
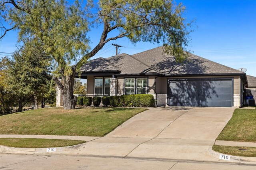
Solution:
<path fill-rule="evenodd" d="M 47 61 L 47 62 L 45 62 Z M 32 100 L 38 109 L 38 97 L 43 96 L 51 80 L 49 56 L 38 47 L 27 43 L 12 55 L 7 63 L 7 84 L 19 98 L 18 111 Z"/>

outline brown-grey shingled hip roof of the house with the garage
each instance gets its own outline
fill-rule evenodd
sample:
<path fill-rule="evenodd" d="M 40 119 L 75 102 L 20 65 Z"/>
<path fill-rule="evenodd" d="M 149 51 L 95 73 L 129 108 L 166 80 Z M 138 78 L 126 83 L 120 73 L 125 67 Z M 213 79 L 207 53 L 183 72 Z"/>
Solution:
<path fill-rule="evenodd" d="M 160 75 L 215 75 L 244 74 L 242 71 L 191 55 L 186 63 L 180 64 L 174 56 L 167 55 L 163 47 L 157 47 L 134 55 L 122 53 L 108 58 L 98 58 L 82 66 L 81 71 L 119 71 L 118 75 L 160 74 Z"/>

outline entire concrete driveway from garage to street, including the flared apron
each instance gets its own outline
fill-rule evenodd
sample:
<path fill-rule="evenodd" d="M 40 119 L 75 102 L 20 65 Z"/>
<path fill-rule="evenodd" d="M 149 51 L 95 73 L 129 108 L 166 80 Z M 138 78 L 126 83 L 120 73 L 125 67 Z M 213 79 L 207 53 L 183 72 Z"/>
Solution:
<path fill-rule="evenodd" d="M 209 154 L 209 149 L 233 111 L 234 108 L 213 107 L 149 109 L 72 153 L 220 162 Z"/>

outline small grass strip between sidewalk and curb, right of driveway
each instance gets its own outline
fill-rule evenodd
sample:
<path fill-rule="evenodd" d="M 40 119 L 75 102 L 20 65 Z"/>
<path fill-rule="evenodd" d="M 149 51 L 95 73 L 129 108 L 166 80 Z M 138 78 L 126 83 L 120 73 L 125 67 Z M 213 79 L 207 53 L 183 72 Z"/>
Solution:
<path fill-rule="evenodd" d="M 212 150 L 233 156 L 256 157 L 256 147 L 213 145 Z"/>

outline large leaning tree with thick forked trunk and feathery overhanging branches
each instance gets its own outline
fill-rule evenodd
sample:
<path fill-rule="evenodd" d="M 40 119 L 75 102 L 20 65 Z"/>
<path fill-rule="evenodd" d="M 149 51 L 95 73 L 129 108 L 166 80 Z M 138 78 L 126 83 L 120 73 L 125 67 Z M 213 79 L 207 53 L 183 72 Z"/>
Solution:
<path fill-rule="evenodd" d="M 99 2 L 64 0 L 2 0 L 2 17 L 16 29 L 19 41 L 40 41 L 42 48 L 56 61 L 53 77 L 61 90 L 64 109 L 75 109 L 74 77 L 79 68 L 113 40 L 162 42 L 165 53 L 177 61 L 187 57 L 191 22 L 184 18 L 185 7 L 172 0 L 100 0 Z M 91 49 L 89 32 L 102 29 L 99 42 Z M 4 36 L 2 35 L 2 37 Z M 114 35 L 114 36 L 113 36 Z M 58 76 L 64 79 L 60 83 Z"/>

